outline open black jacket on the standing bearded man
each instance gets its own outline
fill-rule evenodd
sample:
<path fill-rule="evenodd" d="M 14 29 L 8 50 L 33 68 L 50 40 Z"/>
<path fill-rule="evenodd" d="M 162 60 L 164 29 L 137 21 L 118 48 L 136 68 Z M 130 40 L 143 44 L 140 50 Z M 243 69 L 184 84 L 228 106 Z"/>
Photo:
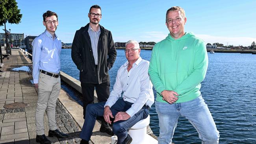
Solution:
<path fill-rule="evenodd" d="M 95 61 L 91 47 L 91 39 L 88 33 L 89 23 L 76 31 L 72 43 L 71 57 L 80 70 L 80 81 L 82 83 L 96 82 Z M 98 40 L 98 83 L 109 81 L 108 69 L 112 68 L 117 51 L 109 30 L 100 26 L 100 37 Z"/>

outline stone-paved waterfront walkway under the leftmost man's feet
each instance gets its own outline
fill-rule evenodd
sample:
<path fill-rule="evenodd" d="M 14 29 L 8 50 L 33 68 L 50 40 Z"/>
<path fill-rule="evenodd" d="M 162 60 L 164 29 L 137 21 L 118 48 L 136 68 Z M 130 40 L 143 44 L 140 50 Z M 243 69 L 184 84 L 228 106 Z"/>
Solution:
<path fill-rule="evenodd" d="M 3 51 L 3 54 L 5 52 Z M 37 144 L 35 142 L 35 108 L 37 90 L 32 85 L 32 62 L 19 50 L 12 50 L 10 59 L 3 59 L 4 72 L 0 73 L 0 143 Z M 61 89 L 62 97 L 68 94 Z M 24 102 L 26 107 L 6 109 L 4 105 Z M 82 120 L 80 120 L 82 121 Z M 45 114 L 45 135 L 48 135 L 48 120 Z M 69 134 L 69 138 L 49 137 L 54 144 L 79 144 L 81 127 L 58 100 L 56 106 L 58 129 Z"/>

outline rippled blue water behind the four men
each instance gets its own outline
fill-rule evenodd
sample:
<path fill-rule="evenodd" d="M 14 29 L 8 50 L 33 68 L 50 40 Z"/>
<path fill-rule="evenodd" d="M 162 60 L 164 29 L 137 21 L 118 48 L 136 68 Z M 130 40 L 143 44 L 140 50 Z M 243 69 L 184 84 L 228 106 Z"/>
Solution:
<path fill-rule="evenodd" d="M 70 53 L 70 49 L 61 50 L 61 70 L 79 79 L 79 71 L 72 62 Z M 149 61 L 151 51 L 141 50 L 141 57 Z M 220 132 L 220 143 L 255 144 L 256 55 L 208 53 L 208 57 L 209 66 L 206 78 L 201 83 L 201 92 Z M 111 90 L 117 70 L 125 61 L 124 51 L 117 50 L 117 59 L 109 71 Z M 150 127 L 158 136 L 158 116 L 154 105 L 150 109 Z M 197 131 L 183 117 L 178 120 L 173 142 L 176 144 L 201 143 Z"/>

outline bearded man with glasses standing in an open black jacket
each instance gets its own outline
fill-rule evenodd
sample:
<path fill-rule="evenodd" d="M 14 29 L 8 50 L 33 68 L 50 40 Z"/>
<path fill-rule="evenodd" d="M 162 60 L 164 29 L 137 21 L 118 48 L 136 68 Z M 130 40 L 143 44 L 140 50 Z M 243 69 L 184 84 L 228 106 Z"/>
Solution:
<path fill-rule="evenodd" d="M 89 24 L 76 31 L 72 43 L 71 57 L 80 70 L 83 93 L 83 118 L 88 104 L 93 103 L 94 90 L 98 102 L 106 102 L 109 97 L 108 70 L 113 66 L 117 52 L 110 31 L 100 26 L 101 8 L 91 6 Z M 112 134 L 109 124 L 102 118 L 101 132 Z"/>

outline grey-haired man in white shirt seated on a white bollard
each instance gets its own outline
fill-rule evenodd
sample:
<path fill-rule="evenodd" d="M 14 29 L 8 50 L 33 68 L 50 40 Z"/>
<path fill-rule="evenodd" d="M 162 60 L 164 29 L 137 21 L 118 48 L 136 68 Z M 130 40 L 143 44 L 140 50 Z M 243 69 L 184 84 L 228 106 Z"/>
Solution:
<path fill-rule="evenodd" d="M 114 118 L 113 133 L 117 135 L 117 144 L 130 144 L 132 138 L 128 129 L 148 116 L 154 103 L 152 83 L 148 76 L 149 62 L 139 56 L 141 50 L 137 41 L 126 42 L 124 51 L 128 61 L 119 68 L 108 101 L 90 104 L 86 108 L 80 144 L 88 144 L 96 116 L 104 116 L 109 124 Z"/>

